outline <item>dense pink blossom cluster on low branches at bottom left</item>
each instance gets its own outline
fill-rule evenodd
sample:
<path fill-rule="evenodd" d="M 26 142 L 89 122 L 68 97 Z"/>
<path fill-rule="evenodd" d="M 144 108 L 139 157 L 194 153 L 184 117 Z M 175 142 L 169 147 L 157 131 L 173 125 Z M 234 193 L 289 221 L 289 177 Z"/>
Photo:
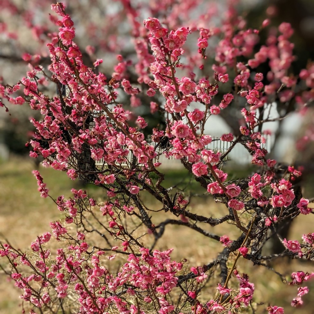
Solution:
<path fill-rule="evenodd" d="M 15 285 L 23 291 L 23 300 L 45 309 L 45 305 L 53 305 L 56 297 L 64 299 L 71 291 L 76 295 L 78 310 L 82 313 L 89 313 L 91 310 L 102 313 L 110 309 L 136 312 L 137 308 L 132 302 L 124 301 L 126 295 L 129 299 L 143 298 L 151 306 L 158 304 L 160 313 L 168 313 L 174 309 L 167 302 L 166 296 L 177 284 L 175 275 L 181 270 L 182 263 L 171 261 L 171 250 L 150 253 L 148 249 L 140 248 L 137 256 L 132 253 L 128 255 L 127 263 L 113 276 L 102 265 L 105 252 L 87 255 L 89 246 L 84 242 L 84 234 L 78 232 L 76 245 L 69 246 L 68 252 L 58 249 L 55 258 L 51 257 L 50 250 L 44 248 L 44 243 L 50 237 L 46 233 L 33 242 L 32 249 L 39 254 L 35 261 L 7 244 L 2 245 L 1 256 L 7 256 L 14 261 L 15 273 L 11 277 Z M 28 266 L 32 274 L 23 277 L 18 270 L 19 265 Z M 82 279 L 86 280 L 86 286 L 82 284 Z M 35 292 L 36 282 L 42 283 L 41 292 Z M 55 290 L 55 294 L 48 293 L 49 288 Z"/>

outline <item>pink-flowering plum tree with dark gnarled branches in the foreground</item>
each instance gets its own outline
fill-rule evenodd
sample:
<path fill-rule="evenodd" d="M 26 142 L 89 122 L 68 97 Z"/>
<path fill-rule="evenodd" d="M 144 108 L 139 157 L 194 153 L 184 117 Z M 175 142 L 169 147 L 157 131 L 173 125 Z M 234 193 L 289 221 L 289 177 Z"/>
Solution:
<path fill-rule="evenodd" d="M 152 1 L 138 8 L 127 0 L 121 3 L 132 26 L 137 58 L 126 60 L 118 54 L 110 76 L 101 71 L 106 56 L 89 66 L 84 62 L 65 5 L 51 5 L 55 30 L 39 28 L 26 16 L 29 27 L 40 33 L 41 42 L 48 41 L 49 53 L 41 47 L 42 57 L 23 54 L 30 70 L 14 85 L 2 82 L 0 105 L 26 103 L 40 111 L 42 119 L 31 119 L 37 131 L 29 143 L 30 156 L 42 156 L 44 166 L 65 171 L 73 180 L 95 184 L 106 197 L 98 202 L 75 189 L 71 198 L 59 196 L 54 201 L 64 219 L 51 222 L 52 235 L 38 236 L 31 252 L 1 242 L 0 256 L 9 263 L 3 270 L 21 289 L 30 313 L 246 311 L 254 298 L 254 283 L 237 269 L 239 259 L 270 272 L 274 270 L 267 262 L 279 255 L 314 259 L 314 233 L 287 240 L 281 238 L 278 227 L 312 213 L 309 200 L 295 185 L 303 170 L 290 165 L 279 171 L 278 162 L 268 159 L 263 148 L 267 133 L 263 124 L 272 121 L 264 113 L 278 97 L 282 106 L 294 100 L 295 109 L 306 112 L 313 99 L 314 66 L 309 63 L 297 75 L 291 74 L 295 56 L 290 24 L 282 23 L 276 31 L 271 28 L 267 41 L 258 45 L 260 32 L 268 32 L 271 20 L 266 19 L 259 30 L 247 28 L 237 15 L 236 1 L 226 1 L 218 26 L 211 21 L 213 6 L 197 19 L 189 17 L 199 5 L 202 10 L 207 8 L 195 1 L 158 5 Z M 10 1 L 1 5 L 18 12 Z M 142 14 L 146 14 L 143 22 Z M 2 28 L 5 32 L 4 25 Z M 92 59 L 93 47 L 87 51 Z M 41 58 L 49 59 L 47 67 Z M 258 69 L 265 64 L 268 72 L 262 73 Z M 21 90 L 23 94 L 16 94 Z M 47 90 L 57 90 L 57 95 Z M 237 134 L 221 136 L 221 141 L 230 142 L 222 154 L 208 148 L 213 138 L 206 133 L 206 125 L 228 107 L 241 112 L 242 119 Z M 141 108 L 159 112 L 165 121 L 151 128 L 149 137 L 144 135 L 148 122 L 136 114 Z M 249 177 L 233 180 L 223 161 L 236 145 L 247 149 L 257 168 Z M 132 160 L 127 158 L 130 152 Z M 180 160 L 203 194 L 225 204 L 225 212 L 216 217 L 197 214 L 190 205 L 191 195 L 176 187 L 166 189 L 159 170 L 161 155 Z M 44 178 L 39 171 L 34 175 L 41 196 L 48 197 Z M 156 223 L 145 202 L 147 195 L 172 218 Z M 222 236 L 206 230 L 208 225 L 226 221 L 238 229 L 237 238 L 230 239 L 228 230 Z M 220 243 L 220 253 L 210 256 L 207 264 L 187 270 L 184 261 L 171 260 L 171 248 L 165 252 L 155 249 L 167 225 L 200 233 L 208 238 L 209 247 L 212 241 Z M 149 245 L 142 241 L 145 234 Z M 55 252 L 49 249 L 51 236 L 59 241 Z M 262 249 L 272 236 L 283 244 L 282 253 L 263 256 Z M 110 263 L 118 254 L 125 261 L 114 272 Z M 214 271 L 219 276 L 209 280 Z M 302 304 L 302 296 L 309 293 L 306 282 L 313 275 L 296 271 L 291 279 L 283 279 L 297 287 L 292 306 Z M 208 286 L 215 291 L 206 290 Z M 207 291 L 205 299 L 203 291 Z M 284 313 L 274 304 L 263 310 L 266 308 L 269 313 Z"/>

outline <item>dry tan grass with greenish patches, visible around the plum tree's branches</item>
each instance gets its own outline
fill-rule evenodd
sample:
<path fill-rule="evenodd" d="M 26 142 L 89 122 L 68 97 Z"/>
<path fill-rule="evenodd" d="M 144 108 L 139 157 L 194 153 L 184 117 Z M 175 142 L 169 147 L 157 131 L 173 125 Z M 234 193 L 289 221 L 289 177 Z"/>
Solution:
<path fill-rule="evenodd" d="M 7 164 L 2 164 L 0 169 L 0 232 L 5 235 L 10 242 L 25 250 L 36 236 L 50 230 L 49 222 L 62 217 L 56 205 L 49 198 L 41 198 L 37 190 L 35 177 L 31 174 L 33 163 L 25 160 L 12 160 Z M 51 169 L 41 168 L 44 182 L 47 183 L 51 195 L 57 197 L 62 193 L 69 196 L 73 182 L 64 173 L 59 173 Z M 101 194 L 99 194 L 101 195 Z M 99 196 L 99 200 L 101 198 Z M 150 204 L 150 208 L 157 210 L 160 204 Z M 192 210 L 199 214 L 218 215 L 226 214 L 226 208 L 221 204 L 216 204 L 209 199 L 203 199 L 203 203 L 192 201 Z M 170 213 L 152 213 L 156 216 L 156 223 L 166 218 L 170 218 Z M 293 225 L 290 239 L 299 239 L 301 233 L 313 232 L 311 217 L 300 216 Z M 215 232 L 219 236 L 228 234 L 235 238 L 238 233 L 233 225 L 224 223 L 218 227 L 206 226 L 210 232 Z M 150 236 L 143 238 L 143 241 L 151 243 Z M 165 250 L 174 248 L 172 258 L 182 260 L 187 258 L 189 265 L 203 265 L 211 262 L 222 246 L 214 240 L 205 238 L 201 234 L 182 226 L 168 226 L 163 239 L 158 242 L 157 249 Z M 2 261 L 1 261 L 2 262 Z M 278 271 L 288 276 L 292 271 L 307 270 L 313 271 L 313 266 L 308 263 L 281 259 L 273 265 Z M 255 300 L 262 302 L 269 300 L 272 305 L 285 306 L 285 313 L 294 313 L 295 309 L 289 306 L 290 301 L 296 295 L 295 286 L 287 286 L 281 282 L 279 277 L 261 266 L 252 266 L 252 263 L 245 259 L 240 259 L 238 263 L 239 271 L 250 274 L 250 281 L 255 283 Z M 217 283 L 219 278 L 217 278 Z M 314 284 L 312 289 L 314 289 Z M 313 293 L 313 292 L 312 292 Z M 17 314 L 21 313 L 19 306 L 19 290 L 14 287 L 14 283 L 7 282 L 4 275 L 0 275 L 0 313 Z M 202 295 L 208 298 L 208 295 Z M 312 313 L 311 298 L 305 297 L 308 304 L 300 309 L 298 313 Z M 256 313 L 265 313 L 266 305 L 257 306 Z M 252 311 L 250 311 L 252 312 Z"/>

